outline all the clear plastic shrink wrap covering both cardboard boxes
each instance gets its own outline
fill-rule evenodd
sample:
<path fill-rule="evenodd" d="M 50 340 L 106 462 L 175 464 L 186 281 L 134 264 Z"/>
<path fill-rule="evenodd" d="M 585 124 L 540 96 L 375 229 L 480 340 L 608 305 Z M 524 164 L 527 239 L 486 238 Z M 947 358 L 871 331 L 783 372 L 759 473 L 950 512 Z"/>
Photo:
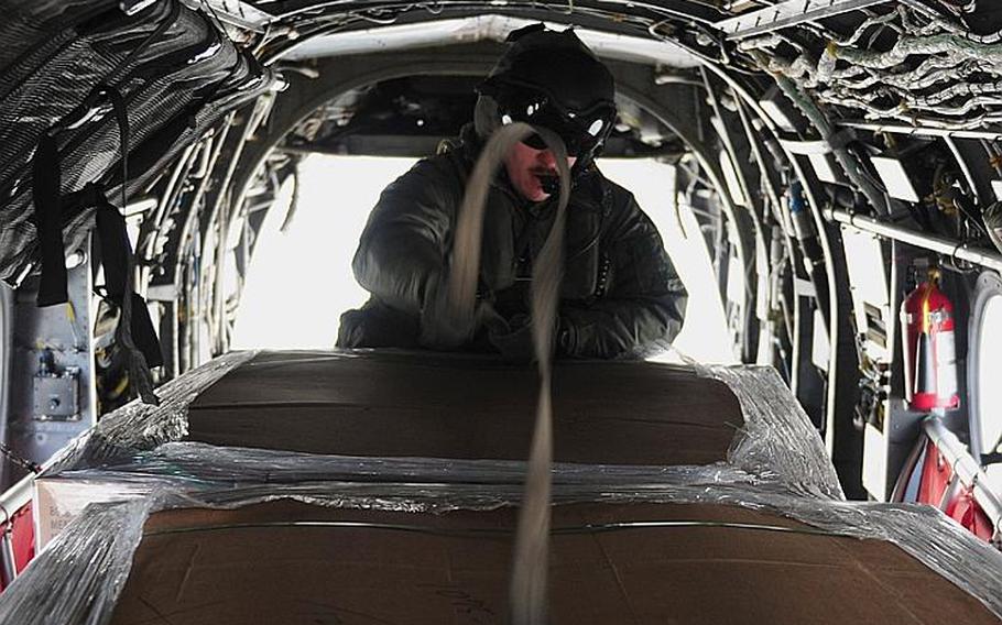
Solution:
<path fill-rule="evenodd" d="M 50 475 L 62 471 L 58 478 L 74 483 L 138 485 L 148 494 L 88 506 L 0 595 L 0 622 L 106 623 L 143 524 L 162 509 L 235 508 L 280 498 L 425 514 L 518 505 L 523 462 L 351 458 L 179 442 L 188 404 L 253 357 L 231 353 L 168 383 L 159 390 L 164 399 L 159 407 L 124 406 L 50 467 Z M 741 403 L 745 426 L 727 461 L 556 464 L 554 504 L 733 505 L 786 516 L 824 534 L 891 541 L 1002 617 L 1002 553 L 929 507 L 845 502 L 820 438 L 774 371 L 699 371 L 727 383 Z"/>

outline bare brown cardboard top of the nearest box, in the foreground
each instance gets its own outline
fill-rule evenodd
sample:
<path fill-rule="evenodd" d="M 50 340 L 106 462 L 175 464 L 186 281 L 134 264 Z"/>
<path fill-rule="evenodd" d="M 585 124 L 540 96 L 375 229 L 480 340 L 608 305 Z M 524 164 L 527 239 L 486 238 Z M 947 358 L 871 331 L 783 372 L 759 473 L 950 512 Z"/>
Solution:
<path fill-rule="evenodd" d="M 146 524 L 112 623 L 501 624 L 515 513 L 416 515 L 291 502 L 160 513 Z M 683 519 L 806 528 L 720 505 L 558 506 L 551 622 L 998 623 L 887 542 L 737 527 L 582 529 Z"/>

